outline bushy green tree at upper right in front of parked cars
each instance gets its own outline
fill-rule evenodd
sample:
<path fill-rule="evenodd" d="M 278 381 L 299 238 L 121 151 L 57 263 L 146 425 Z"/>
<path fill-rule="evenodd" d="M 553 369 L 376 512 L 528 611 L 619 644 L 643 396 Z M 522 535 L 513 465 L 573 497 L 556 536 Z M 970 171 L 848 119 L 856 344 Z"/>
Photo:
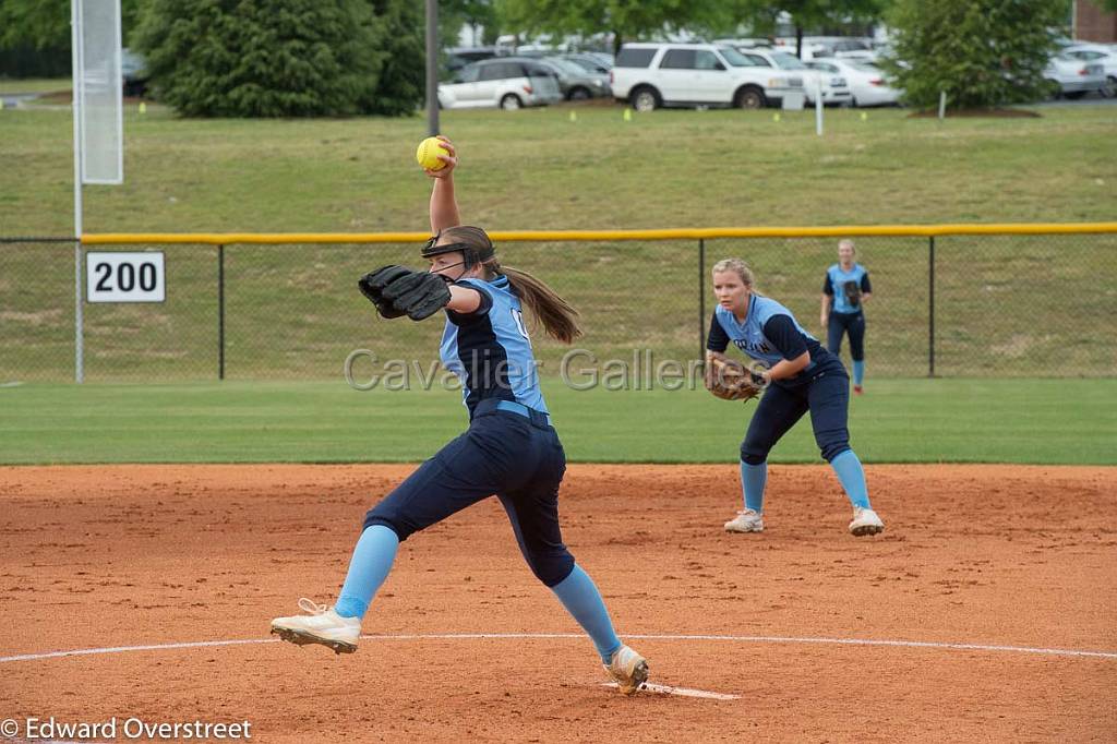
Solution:
<path fill-rule="evenodd" d="M 1035 101 L 1066 10 L 1062 0 L 897 0 L 884 65 L 918 108 L 941 92 L 952 108 Z"/>

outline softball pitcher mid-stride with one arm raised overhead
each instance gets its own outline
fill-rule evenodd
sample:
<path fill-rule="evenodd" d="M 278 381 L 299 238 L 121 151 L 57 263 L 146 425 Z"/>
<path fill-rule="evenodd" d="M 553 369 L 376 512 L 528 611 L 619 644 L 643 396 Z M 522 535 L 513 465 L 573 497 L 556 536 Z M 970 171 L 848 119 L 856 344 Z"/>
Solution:
<path fill-rule="evenodd" d="M 461 226 L 454 193 L 457 155 L 442 141 L 446 165 L 427 171 L 435 179 L 435 237 L 422 249 L 430 270 L 385 266 L 360 286 L 384 317 L 418 321 L 446 311 L 440 356 L 462 382 L 469 428 L 367 513 L 335 605 L 299 600 L 311 614 L 276 618 L 271 632 L 298 645 L 355 651 L 361 619 L 400 542 L 496 495 L 536 578 L 582 626 L 607 674 L 630 695 L 647 679 L 648 662 L 621 643 L 596 586 L 563 544 L 558 486 L 566 458 L 540 391 L 522 307 L 566 343 L 581 334 L 577 313 L 531 275 L 502 268 L 485 231 Z"/>

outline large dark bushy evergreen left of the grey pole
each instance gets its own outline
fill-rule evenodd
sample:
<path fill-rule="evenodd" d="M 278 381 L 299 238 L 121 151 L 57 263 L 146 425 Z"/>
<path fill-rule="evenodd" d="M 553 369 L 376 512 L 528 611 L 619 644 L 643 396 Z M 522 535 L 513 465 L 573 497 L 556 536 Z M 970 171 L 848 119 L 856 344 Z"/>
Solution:
<path fill-rule="evenodd" d="M 150 0 L 136 32 L 156 96 L 188 116 L 412 113 L 410 0 Z"/>

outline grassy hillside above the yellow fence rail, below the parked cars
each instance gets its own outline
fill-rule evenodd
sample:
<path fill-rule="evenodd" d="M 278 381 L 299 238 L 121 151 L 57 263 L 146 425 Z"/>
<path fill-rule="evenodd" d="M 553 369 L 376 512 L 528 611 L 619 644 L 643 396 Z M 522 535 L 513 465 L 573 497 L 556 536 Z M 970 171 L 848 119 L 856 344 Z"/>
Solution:
<path fill-rule="evenodd" d="M 576 111 L 577 121 L 570 121 Z M 909 118 L 903 109 L 667 111 L 614 105 L 447 111 L 464 217 L 489 229 L 1114 217 L 1109 106 L 1039 118 Z M 125 112 L 125 183 L 86 189 L 86 231 L 426 230 L 420 116 L 182 120 Z M 68 111 L 0 113 L 0 235 L 73 232 Z"/>

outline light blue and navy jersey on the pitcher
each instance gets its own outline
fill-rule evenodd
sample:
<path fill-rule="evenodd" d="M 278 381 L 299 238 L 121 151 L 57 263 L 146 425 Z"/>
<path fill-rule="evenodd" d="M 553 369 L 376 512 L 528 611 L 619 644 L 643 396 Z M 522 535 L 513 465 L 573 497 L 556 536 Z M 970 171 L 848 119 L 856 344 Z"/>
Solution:
<path fill-rule="evenodd" d="M 508 277 L 500 275 L 493 282 L 459 279 L 455 284 L 481 294 L 477 312 L 446 312 L 439 353 L 442 365 L 461 380 L 469 414 L 487 398 L 547 412 L 519 297 L 512 290 Z"/>

